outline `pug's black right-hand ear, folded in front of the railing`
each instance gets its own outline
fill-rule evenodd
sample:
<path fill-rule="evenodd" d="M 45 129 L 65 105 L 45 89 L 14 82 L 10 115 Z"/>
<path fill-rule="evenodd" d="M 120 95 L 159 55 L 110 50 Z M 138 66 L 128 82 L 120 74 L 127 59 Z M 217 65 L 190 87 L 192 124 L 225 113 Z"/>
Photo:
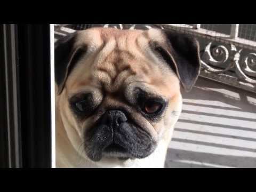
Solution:
<path fill-rule="evenodd" d="M 163 29 L 166 47 L 155 45 L 155 50 L 174 70 L 186 91 L 190 91 L 198 78 L 201 60 L 199 43 L 194 37 Z"/>

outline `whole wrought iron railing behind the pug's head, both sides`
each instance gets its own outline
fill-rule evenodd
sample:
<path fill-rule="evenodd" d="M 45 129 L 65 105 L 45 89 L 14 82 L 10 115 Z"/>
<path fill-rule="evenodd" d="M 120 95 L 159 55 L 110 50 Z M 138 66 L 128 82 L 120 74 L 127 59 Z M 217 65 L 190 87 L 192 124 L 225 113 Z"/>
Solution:
<path fill-rule="evenodd" d="M 256 25 L 255 29 L 251 27 L 241 30 L 243 28 L 239 27 L 239 24 L 229 24 L 230 29 L 227 33 L 219 33 L 214 29 L 214 25 L 65 24 L 55 25 L 55 38 L 90 27 L 144 30 L 153 27 L 179 31 L 195 36 L 201 44 L 202 77 L 256 92 Z"/>

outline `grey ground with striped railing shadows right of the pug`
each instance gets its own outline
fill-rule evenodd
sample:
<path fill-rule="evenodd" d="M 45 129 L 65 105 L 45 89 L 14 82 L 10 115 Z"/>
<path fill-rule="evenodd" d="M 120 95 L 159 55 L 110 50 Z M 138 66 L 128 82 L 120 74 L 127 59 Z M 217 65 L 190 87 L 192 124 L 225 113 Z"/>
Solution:
<path fill-rule="evenodd" d="M 199 78 L 183 93 L 165 167 L 256 167 L 256 94 Z"/>

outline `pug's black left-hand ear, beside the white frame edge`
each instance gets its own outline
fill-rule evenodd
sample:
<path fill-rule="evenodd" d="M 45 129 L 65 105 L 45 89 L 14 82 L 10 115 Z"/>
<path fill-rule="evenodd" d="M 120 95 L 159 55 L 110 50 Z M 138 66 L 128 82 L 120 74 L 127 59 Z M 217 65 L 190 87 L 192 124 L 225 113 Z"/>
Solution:
<path fill-rule="evenodd" d="M 77 32 L 62 37 L 55 42 L 55 83 L 58 85 L 58 94 L 63 91 L 68 75 L 75 67 L 77 60 L 86 52 L 86 46 L 75 46 L 76 37 Z"/>

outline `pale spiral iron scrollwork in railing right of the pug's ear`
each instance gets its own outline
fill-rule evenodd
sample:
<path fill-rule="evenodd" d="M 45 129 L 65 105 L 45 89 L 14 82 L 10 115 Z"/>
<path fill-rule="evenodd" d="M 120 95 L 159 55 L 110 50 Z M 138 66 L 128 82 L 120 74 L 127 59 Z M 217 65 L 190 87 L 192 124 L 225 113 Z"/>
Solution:
<path fill-rule="evenodd" d="M 213 45 L 210 42 L 201 54 L 201 62 L 202 70 L 222 75 L 218 80 L 231 75 L 233 81 L 237 78 L 238 84 L 249 83 L 253 87 L 250 91 L 256 91 L 256 53 L 238 49 L 233 44 Z"/>

